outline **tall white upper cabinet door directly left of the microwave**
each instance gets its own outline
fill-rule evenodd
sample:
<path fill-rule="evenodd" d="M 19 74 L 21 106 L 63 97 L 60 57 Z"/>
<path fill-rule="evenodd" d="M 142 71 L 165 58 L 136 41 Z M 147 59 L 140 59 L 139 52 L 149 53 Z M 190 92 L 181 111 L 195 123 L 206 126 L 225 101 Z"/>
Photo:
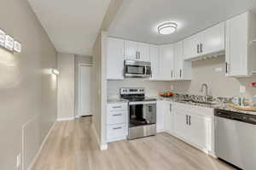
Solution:
<path fill-rule="evenodd" d="M 124 79 L 124 40 L 108 37 L 107 78 Z"/>

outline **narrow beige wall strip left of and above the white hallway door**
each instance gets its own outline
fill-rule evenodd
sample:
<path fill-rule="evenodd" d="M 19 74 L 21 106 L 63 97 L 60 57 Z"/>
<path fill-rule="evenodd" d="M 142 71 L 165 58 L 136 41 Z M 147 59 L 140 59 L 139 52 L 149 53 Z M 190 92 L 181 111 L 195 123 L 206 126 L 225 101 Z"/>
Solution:
<path fill-rule="evenodd" d="M 74 58 L 74 81 L 75 81 L 75 97 L 74 97 L 74 104 L 75 104 L 75 116 L 79 115 L 79 64 L 89 64 L 92 65 L 92 56 L 82 56 L 82 55 L 75 55 Z"/>

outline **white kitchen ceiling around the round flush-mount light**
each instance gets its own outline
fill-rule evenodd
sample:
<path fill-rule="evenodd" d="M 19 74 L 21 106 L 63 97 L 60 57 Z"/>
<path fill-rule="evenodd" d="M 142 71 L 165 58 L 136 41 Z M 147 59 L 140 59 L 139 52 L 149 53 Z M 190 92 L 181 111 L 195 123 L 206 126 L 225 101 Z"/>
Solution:
<path fill-rule="evenodd" d="M 256 0 L 125 0 L 108 33 L 140 42 L 172 43 L 247 9 L 256 12 Z M 177 33 L 159 35 L 156 27 L 164 21 L 177 22 Z"/>

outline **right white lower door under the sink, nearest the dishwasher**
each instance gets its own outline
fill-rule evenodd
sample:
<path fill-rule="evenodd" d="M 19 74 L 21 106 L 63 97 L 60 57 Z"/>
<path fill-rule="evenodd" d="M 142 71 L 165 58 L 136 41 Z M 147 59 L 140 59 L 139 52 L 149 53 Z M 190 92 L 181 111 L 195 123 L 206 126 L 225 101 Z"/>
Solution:
<path fill-rule="evenodd" d="M 189 141 L 202 149 L 207 149 L 207 139 L 210 136 L 210 134 L 207 135 L 207 133 L 210 133 L 207 131 L 207 118 L 190 115 L 189 119 Z"/>

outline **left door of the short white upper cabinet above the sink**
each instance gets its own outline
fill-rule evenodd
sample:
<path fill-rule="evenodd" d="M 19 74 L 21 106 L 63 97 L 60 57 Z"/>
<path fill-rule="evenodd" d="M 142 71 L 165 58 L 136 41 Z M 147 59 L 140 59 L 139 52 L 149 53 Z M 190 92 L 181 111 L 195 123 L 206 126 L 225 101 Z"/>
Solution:
<path fill-rule="evenodd" d="M 192 59 L 200 54 L 200 34 L 188 37 L 183 40 L 183 57 L 184 59 Z"/>

